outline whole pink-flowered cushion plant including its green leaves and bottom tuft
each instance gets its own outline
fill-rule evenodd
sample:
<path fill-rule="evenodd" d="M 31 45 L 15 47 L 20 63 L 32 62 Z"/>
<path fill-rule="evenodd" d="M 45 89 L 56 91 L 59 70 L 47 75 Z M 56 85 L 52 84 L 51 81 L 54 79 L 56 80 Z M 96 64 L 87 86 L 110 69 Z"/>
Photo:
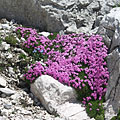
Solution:
<path fill-rule="evenodd" d="M 100 65 L 99 62 L 95 62 L 98 55 L 103 59 L 107 56 L 107 52 L 104 55 L 101 54 L 101 49 L 103 52 L 107 50 L 101 42 L 102 38 L 98 35 L 84 34 L 60 36 L 57 33 L 51 33 L 46 38 L 38 36 L 36 30 L 32 28 L 19 27 L 18 30 L 21 30 L 19 31 L 21 36 L 26 39 L 23 43 L 24 50 L 32 56 L 33 61 L 37 61 L 24 75 L 26 82 L 30 84 L 42 74 L 48 74 L 61 83 L 75 88 L 78 99 L 85 104 L 86 112 L 91 118 L 104 120 L 102 103 L 109 75 L 107 71 L 102 73 L 103 70 L 100 67 L 101 64 L 105 67 L 106 62 Z M 98 48 L 101 49 L 98 50 Z M 46 64 L 45 67 L 39 62 L 41 59 Z M 101 78 L 99 79 L 98 76 L 103 78 L 104 83 L 99 84 Z"/>

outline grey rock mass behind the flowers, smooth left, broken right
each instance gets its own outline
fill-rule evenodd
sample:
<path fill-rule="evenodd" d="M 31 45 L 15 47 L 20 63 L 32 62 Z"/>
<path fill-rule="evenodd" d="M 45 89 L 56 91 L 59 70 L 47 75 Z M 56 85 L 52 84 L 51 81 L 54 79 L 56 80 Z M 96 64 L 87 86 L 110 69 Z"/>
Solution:
<path fill-rule="evenodd" d="M 0 18 L 15 19 L 41 31 L 87 32 L 116 0 L 0 0 Z"/>

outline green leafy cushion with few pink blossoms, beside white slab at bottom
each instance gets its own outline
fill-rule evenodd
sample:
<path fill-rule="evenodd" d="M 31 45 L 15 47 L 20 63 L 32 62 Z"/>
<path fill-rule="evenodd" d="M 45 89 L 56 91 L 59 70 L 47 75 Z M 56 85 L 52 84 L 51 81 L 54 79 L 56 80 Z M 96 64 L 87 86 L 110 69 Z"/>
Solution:
<path fill-rule="evenodd" d="M 92 104 L 92 106 L 89 103 Z M 104 118 L 103 100 L 90 101 L 89 103 L 86 105 L 86 112 L 89 117 L 102 120 L 102 118 Z"/>

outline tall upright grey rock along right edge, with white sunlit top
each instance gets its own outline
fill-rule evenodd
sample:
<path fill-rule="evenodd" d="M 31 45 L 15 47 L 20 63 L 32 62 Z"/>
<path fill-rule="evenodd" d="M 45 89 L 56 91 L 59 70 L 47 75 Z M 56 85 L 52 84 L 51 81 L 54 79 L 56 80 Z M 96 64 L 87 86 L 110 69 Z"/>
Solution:
<path fill-rule="evenodd" d="M 106 92 L 106 120 L 116 115 L 120 108 L 120 8 L 113 8 L 100 23 L 98 34 L 108 46 L 107 65 L 110 73 Z"/>

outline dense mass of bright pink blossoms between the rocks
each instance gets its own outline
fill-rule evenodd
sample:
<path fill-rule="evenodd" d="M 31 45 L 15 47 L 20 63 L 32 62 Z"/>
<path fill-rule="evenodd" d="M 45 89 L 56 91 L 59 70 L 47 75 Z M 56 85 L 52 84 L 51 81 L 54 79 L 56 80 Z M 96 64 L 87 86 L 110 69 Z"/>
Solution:
<path fill-rule="evenodd" d="M 83 103 L 92 98 L 101 100 L 106 92 L 109 78 L 105 58 L 107 47 L 99 35 L 87 36 L 81 34 L 57 35 L 54 40 L 39 36 L 31 28 L 17 28 L 22 37 L 29 32 L 24 47 L 43 50 L 48 56 L 46 66 L 39 62 L 31 65 L 31 69 L 24 75 L 31 82 L 42 74 L 47 74 L 63 84 L 82 90 L 86 85 L 92 91 L 89 96 L 83 98 Z M 81 72 L 85 74 L 81 76 Z"/>

